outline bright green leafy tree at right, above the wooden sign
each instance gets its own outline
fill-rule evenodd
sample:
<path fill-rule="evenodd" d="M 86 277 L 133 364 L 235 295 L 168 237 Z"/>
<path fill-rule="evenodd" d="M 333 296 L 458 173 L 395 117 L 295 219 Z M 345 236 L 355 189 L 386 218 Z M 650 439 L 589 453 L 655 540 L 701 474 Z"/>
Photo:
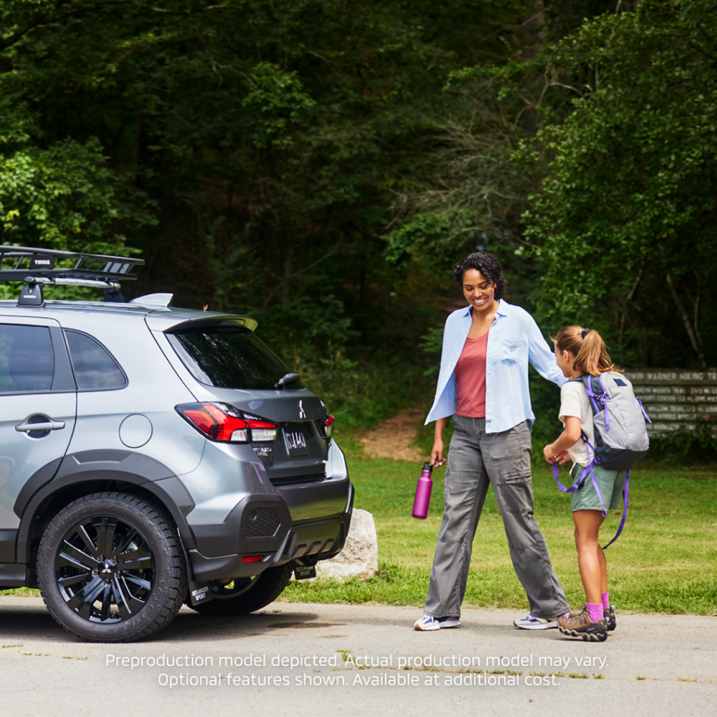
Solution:
<path fill-rule="evenodd" d="M 541 307 L 601 327 L 630 363 L 716 356 L 716 60 L 706 0 L 643 0 L 550 57 L 579 97 L 526 153 L 547 157 L 526 215 L 543 244 Z"/>

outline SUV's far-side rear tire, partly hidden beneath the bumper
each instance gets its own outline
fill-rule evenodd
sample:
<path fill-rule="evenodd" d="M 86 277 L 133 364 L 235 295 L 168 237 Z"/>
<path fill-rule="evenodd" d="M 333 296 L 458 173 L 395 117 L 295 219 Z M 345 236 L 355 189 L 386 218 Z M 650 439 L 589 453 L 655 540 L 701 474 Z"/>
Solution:
<path fill-rule="evenodd" d="M 284 592 L 293 568 L 291 563 L 267 568 L 255 578 L 237 578 L 228 585 L 213 587 L 212 599 L 196 605 L 196 612 L 218 617 L 247 615 L 266 607 Z"/>

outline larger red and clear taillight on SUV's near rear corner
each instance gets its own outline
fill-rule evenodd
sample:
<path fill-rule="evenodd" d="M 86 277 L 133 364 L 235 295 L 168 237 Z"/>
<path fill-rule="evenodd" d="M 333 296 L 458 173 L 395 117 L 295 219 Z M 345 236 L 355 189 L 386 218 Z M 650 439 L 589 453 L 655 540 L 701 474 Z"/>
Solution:
<path fill-rule="evenodd" d="M 177 413 L 213 441 L 252 443 L 275 440 L 277 427 L 268 421 L 244 418 L 224 403 L 182 404 Z"/>

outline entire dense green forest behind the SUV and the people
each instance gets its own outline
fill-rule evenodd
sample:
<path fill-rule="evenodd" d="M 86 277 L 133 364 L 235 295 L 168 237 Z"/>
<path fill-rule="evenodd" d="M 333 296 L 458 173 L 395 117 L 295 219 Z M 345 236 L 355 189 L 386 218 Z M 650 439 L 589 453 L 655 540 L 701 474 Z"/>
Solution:
<path fill-rule="evenodd" d="M 361 422 L 430 390 L 448 270 L 476 244 L 546 328 L 599 326 L 628 364 L 714 364 L 715 18 L 0 0 L 1 239 L 140 250 L 130 293 L 257 315 Z"/>

